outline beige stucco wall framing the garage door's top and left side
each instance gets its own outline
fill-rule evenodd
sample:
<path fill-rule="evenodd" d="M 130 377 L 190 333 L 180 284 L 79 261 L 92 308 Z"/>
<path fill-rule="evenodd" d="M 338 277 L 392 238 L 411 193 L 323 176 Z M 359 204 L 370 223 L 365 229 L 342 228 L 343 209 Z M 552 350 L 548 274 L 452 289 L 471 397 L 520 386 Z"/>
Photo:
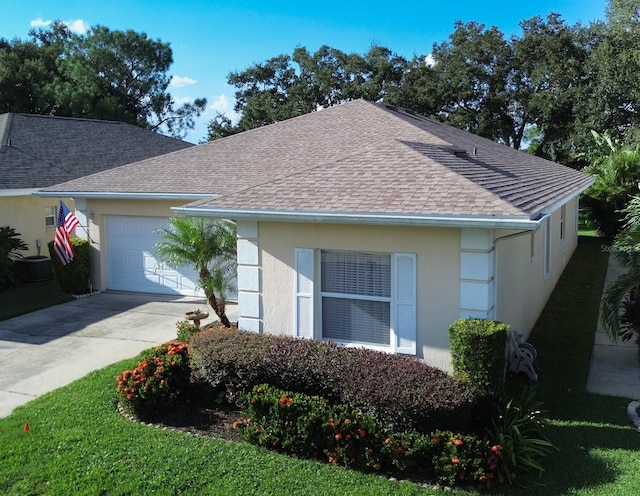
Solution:
<path fill-rule="evenodd" d="M 108 215 L 131 215 L 149 217 L 173 217 L 171 207 L 182 206 L 185 200 L 99 200 L 88 199 L 86 206 L 78 202 L 79 218 L 89 216 L 89 236 L 91 237 L 91 284 L 94 290 L 107 289 L 107 268 L 104 260 L 108 256 L 103 244 L 105 218 Z"/>

